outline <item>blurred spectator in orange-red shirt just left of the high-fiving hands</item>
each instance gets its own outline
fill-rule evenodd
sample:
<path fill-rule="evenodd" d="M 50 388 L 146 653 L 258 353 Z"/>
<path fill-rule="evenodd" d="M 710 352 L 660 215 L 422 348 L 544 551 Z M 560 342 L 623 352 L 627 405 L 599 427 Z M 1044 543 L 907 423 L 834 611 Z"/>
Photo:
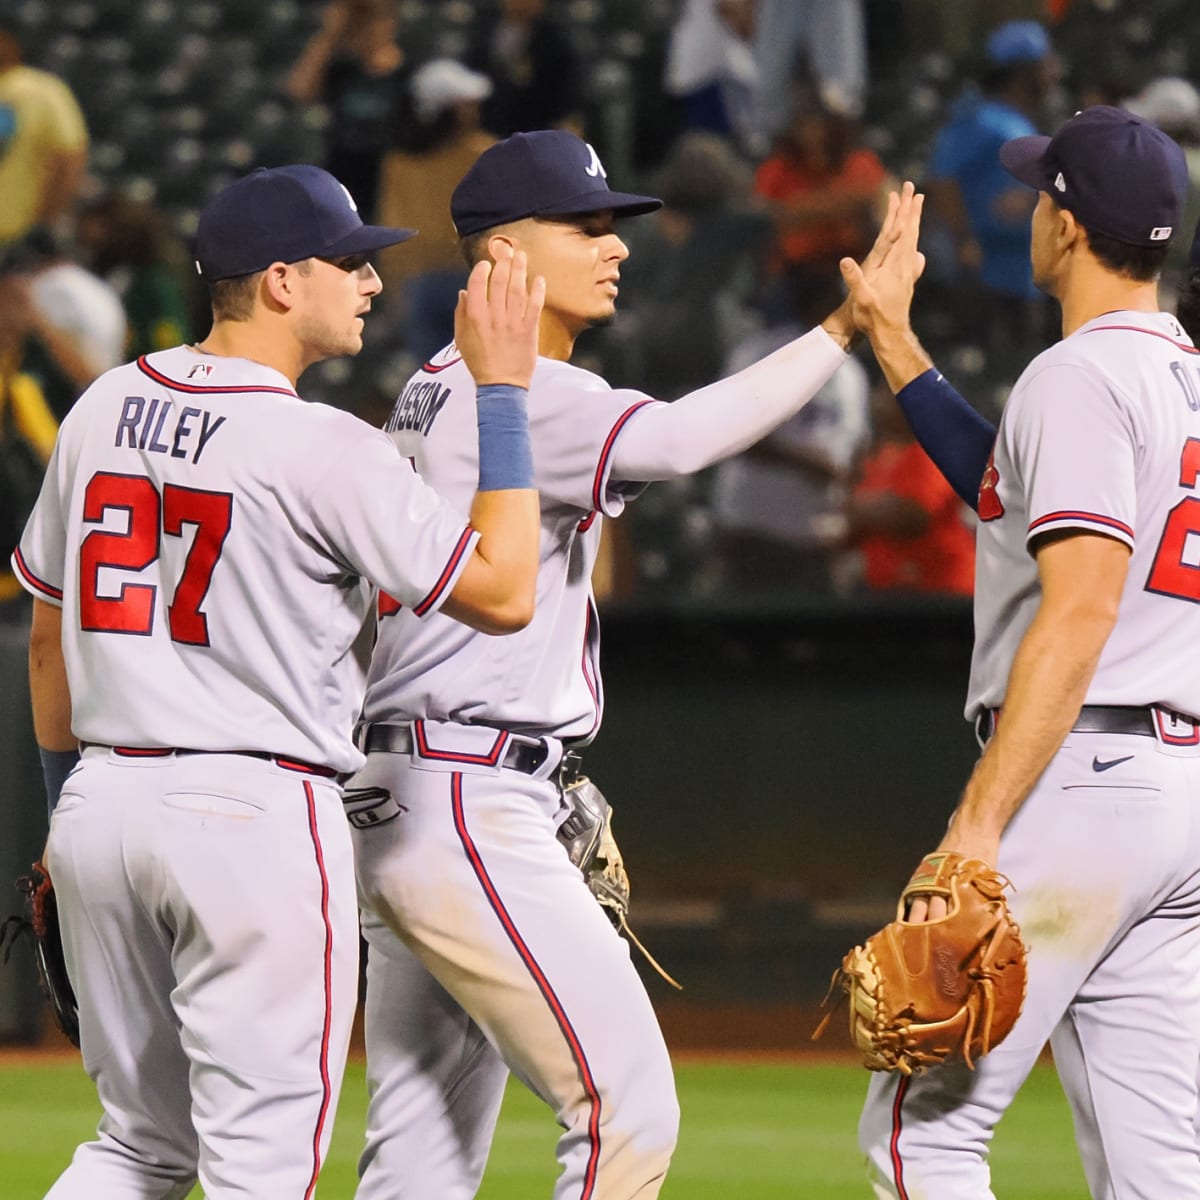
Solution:
<path fill-rule="evenodd" d="M 786 274 L 823 280 L 840 258 L 871 245 L 890 182 L 858 122 L 830 109 L 812 88 L 797 94 L 792 119 L 758 167 L 755 190 L 770 206 L 776 262 Z"/>

